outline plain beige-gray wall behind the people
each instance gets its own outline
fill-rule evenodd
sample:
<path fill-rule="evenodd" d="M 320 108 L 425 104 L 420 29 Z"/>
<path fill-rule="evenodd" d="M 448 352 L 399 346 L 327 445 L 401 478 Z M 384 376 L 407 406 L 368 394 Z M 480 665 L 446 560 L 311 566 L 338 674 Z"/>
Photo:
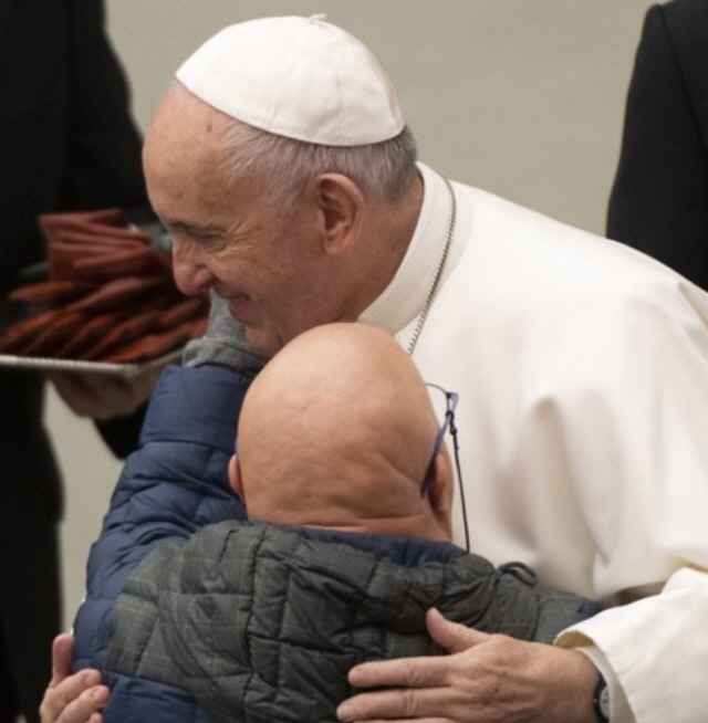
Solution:
<path fill-rule="evenodd" d="M 398 90 L 420 158 L 603 232 L 634 53 L 648 0 L 107 0 L 145 128 L 176 66 L 223 25 L 314 14 L 363 40 Z M 93 426 L 50 395 L 66 479 L 65 619 L 121 469 Z"/>

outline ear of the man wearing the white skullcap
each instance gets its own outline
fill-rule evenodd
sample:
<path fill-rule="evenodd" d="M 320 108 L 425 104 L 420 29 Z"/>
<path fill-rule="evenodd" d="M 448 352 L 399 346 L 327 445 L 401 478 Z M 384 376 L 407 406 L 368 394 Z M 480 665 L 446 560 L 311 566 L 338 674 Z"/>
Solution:
<path fill-rule="evenodd" d="M 315 179 L 315 203 L 325 250 L 336 255 L 345 253 L 361 229 L 362 191 L 342 174 L 322 174 Z"/>

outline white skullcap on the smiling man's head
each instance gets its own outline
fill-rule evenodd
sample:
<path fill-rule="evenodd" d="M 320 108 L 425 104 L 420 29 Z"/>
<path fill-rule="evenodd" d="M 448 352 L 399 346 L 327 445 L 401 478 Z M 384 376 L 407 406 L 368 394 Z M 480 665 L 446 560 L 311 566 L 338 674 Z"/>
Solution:
<path fill-rule="evenodd" d="M 185 61 L 177 78 L 218 111 L 299 140 L 360 146 L 404 128 L 376 57 L 323 15 L 229 25 Z"/>

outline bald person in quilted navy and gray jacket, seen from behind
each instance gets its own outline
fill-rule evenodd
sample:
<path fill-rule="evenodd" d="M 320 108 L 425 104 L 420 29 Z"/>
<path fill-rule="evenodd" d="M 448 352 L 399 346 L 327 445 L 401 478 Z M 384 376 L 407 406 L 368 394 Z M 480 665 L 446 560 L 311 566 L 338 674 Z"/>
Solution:
<path fill-rule="evenodd" d="M 243 396 L 240 377 L 223 369 L 173 374 Z M 171 417 L 180 400 L 168 399 L 169 387 L 160 384 L 156 405 Z M 181 407 L 201 419 L 215 405 L 205 395 Z M 441 652 L 426 635 L 431 607 L 539 642 L 595 612 L 596 604 L 534 586 L 528 569 L 497 569 L 449 544 L 454 475 L 442 439 L 452 415 L 438 422 L 415 365 L 385 332 L 310 329 L 243 400 L 230 479 L 251 522 L 225 520 L 186 542 L 194 505 L 185 490 L 198 479 L 200 506 L 219 503 L 219 481 L 210 486 L 214 473 L 194 474 L 187 458 L 208 458 L 219 478 L 217 452 L 176 448 L 170 420 L 148 418 L 93 546 L 74 626 L 80 654 L 111 687 L 106 722 L 202 720 L 204 709 L 225 723 L 334 723 L 354 663 Z M 134 564 L 140 548 L 149 552 Z M 566 664 L 590 666 L 572 651 Z"/>

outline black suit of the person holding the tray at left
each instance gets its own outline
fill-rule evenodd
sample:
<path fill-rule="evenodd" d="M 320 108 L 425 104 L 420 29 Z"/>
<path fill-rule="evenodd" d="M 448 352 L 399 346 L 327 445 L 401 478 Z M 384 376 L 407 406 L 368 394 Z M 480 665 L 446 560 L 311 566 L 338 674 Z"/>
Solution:
<path fill-rule="evenodd" d="M 101 0 L 0 0 L 0 297 L 44 255 L 41 212 L 145 205 L 140 137 Z M 0 326 L 13 310 L 0 301 Z M 0 719 L 29 721 L 60 626 L 60 478 L 43 383 L 0 369 Z M 6 654 L 2 656 L 4 648 Z"/>

